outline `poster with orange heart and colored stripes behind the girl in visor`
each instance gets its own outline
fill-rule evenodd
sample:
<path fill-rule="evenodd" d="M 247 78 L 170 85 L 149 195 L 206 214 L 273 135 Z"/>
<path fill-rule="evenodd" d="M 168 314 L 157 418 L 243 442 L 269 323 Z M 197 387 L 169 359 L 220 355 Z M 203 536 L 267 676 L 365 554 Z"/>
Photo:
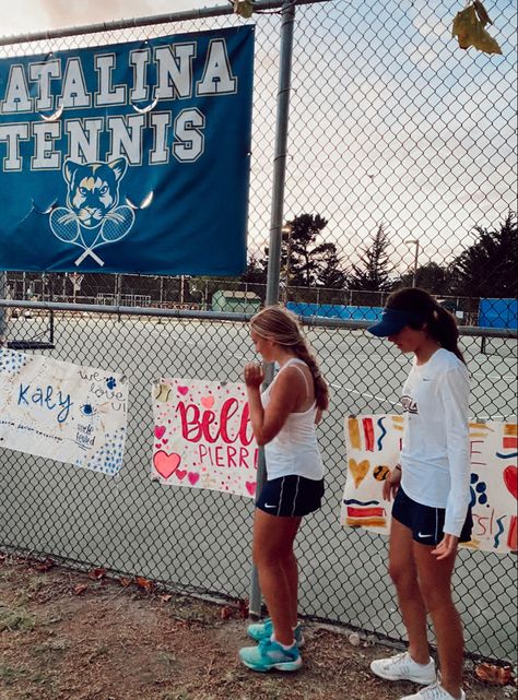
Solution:
<path fill-rule="evenodd" d="M 401 451 L 403 417 L 364 415 L 345 418 L 348 476 L 340 522 L 389 533 L 391 503 L 382 483 Z M 518 426 L 470 423 L 473 532 L 463 546 L 485 551 L 518 551 Z"/>

